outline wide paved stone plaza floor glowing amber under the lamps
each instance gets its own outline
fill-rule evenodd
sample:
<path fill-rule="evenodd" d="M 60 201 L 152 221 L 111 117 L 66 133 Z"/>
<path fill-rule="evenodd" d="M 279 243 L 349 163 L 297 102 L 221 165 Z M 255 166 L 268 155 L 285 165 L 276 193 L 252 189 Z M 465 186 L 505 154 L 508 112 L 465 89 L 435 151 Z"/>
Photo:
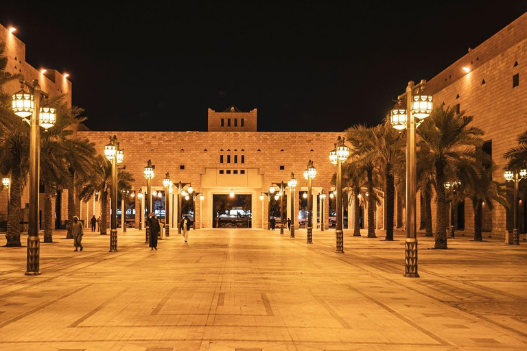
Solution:
<path fill-rule="evenodd" d="M 0 247 L 0 350 L 526 350 L 527 243 L 419 236 L 421 278 L 403 277 L 404 235 L 334 230 L 54 233 L 40 276 Z M 0 237 L 2 241 L 5 239 Z M 23 242 L 27 238 L 23 237 Z"/>

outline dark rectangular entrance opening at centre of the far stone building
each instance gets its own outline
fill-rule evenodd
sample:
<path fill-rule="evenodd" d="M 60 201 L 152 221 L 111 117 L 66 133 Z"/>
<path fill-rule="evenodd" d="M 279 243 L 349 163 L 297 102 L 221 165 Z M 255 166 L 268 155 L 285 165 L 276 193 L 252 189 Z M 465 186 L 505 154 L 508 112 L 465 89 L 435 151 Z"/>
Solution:
<path fill-rule="evenodd" d="M 213 195 L 213 228 L 251 228 L 250 194 Z"/>

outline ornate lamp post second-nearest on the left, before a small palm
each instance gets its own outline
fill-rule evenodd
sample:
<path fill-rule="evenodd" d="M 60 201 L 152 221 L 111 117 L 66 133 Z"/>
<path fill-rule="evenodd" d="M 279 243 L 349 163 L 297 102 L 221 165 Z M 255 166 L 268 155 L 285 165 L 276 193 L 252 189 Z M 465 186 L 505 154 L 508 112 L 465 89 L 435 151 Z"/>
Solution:
<path fill-rule="evenodd" d="M 110 189 L 110 252 L 117 252 L 117 164 L 123 162 L 123 150 L 119 149 L 117 136 L 110 136 L 110 143 L 104 145 L 104 156 L 112 162 L 112 186 Z"/>

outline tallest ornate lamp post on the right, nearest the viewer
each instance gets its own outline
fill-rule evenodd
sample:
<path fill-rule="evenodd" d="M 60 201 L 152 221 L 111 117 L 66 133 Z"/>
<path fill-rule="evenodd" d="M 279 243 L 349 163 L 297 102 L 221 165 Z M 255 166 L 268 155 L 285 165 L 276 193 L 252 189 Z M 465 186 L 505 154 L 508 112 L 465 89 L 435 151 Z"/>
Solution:
<path fill-rule="evenodd" d="M 426 81 L 417 85 L 408 82 L 406 93 L 399 95 L 399 104 L 390 112 L 390 121 L 396 130 L 406 128 L 406 243 L 404 276 L 419 278 L 417 272 L 417 200 L 416 200 L 416 157 L 415 130 L 423 119 L 432 112 L 432 95 L 423 93 Z M 402 102 L 406 100 L 406 107 Z M 416 121 L 417 118 L 417 121 Z"/>

